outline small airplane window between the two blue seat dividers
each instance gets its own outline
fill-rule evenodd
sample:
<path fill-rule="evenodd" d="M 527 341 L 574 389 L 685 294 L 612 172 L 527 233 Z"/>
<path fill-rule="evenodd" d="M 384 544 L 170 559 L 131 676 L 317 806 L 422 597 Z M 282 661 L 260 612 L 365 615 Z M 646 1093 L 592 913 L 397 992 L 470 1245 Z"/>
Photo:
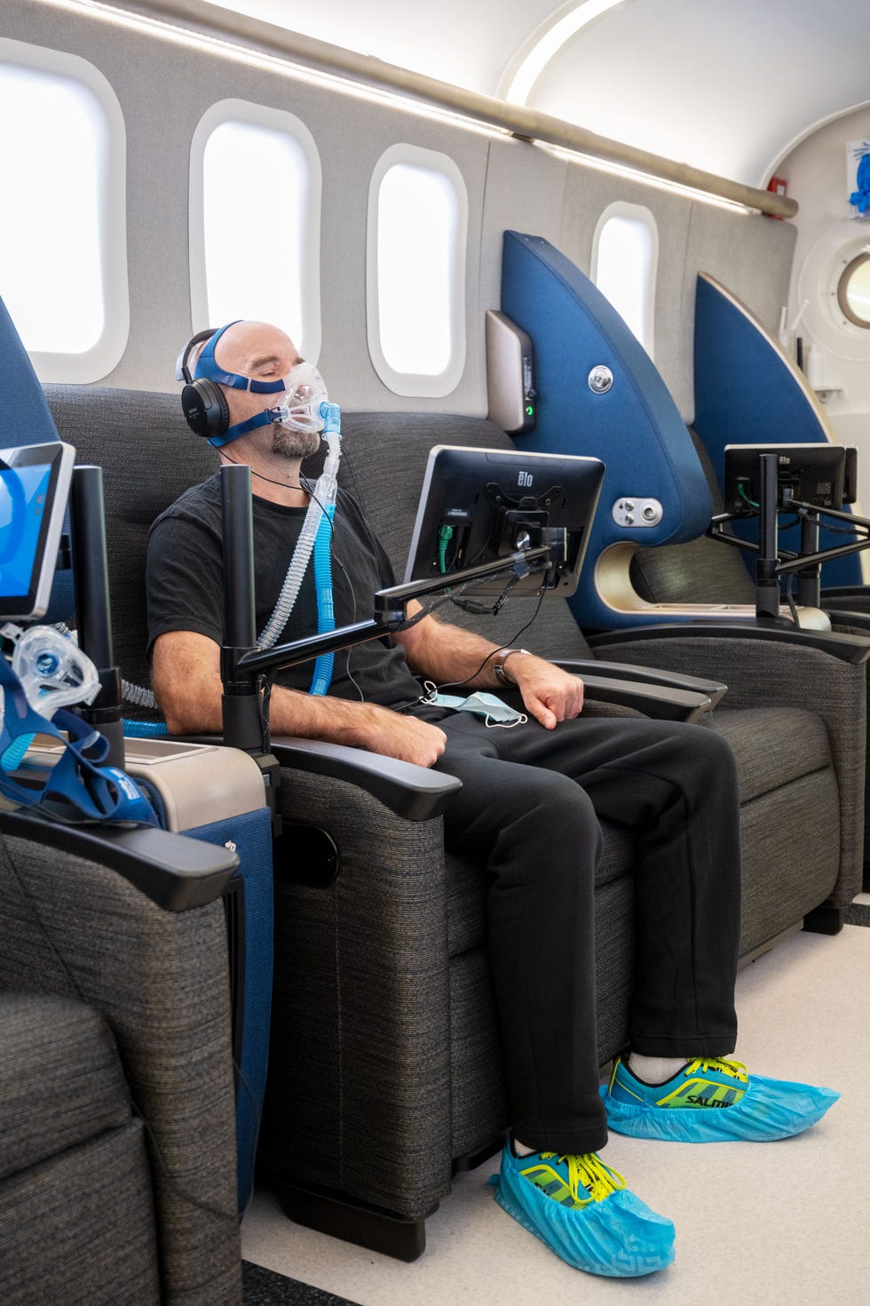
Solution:
<path fill-rule="evenodd" d="M 597 221 L 592 281 L 653 357 L 653 310 L 659 232 L 650 209 L 617 201 Z"/>

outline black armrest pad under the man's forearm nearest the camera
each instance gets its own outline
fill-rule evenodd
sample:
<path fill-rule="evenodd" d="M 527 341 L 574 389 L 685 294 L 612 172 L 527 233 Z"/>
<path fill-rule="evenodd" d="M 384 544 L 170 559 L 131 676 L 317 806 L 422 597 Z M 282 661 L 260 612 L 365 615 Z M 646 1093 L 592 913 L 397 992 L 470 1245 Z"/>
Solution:
<path fill-rule="evenodd" d="M 340 743 L 273 735 L 271 751 L 282 767 L 346 780 L 407 820 L 440 816 L 450 798 L 462 789 L 462 781 L 455 776 Z"/>

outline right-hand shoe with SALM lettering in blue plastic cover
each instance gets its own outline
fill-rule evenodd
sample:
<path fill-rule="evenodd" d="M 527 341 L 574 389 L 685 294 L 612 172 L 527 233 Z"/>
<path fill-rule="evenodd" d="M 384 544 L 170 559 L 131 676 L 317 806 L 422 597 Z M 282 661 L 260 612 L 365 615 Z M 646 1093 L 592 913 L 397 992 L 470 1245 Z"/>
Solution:
<path fill-rule="evenodd" d="M 618 1134 L 724 1143 L 802 1134 L 840 1094 L 813 1084 L 749 1075 L 740 1062 L 697 1057 L 664 1084 L 644 1084 L 618 1059 L 601 1096 L 608 1124 Z"/>

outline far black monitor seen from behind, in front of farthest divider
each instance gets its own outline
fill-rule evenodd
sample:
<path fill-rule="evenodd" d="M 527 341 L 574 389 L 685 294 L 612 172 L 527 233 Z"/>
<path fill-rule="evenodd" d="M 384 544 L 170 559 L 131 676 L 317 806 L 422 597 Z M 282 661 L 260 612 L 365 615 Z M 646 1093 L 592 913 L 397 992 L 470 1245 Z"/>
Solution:
<path fill-rule="evenodd" d="M 754 516 L 760 503 L 762 453 L 776 454 L 777 503 L 787 498 L 839 512 L 854 502 L 856 454 L 840 444 L 727 444 L 725 511 Z M 783 491 L 789 491 L 784 495 Z"/>

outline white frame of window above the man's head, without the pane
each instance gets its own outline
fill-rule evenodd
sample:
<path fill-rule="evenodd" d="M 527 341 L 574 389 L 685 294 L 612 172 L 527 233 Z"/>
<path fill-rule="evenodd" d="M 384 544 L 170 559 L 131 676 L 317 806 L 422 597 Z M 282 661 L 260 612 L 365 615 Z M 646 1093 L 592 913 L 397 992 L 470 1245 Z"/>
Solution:
<path fill-rule="evenodd" d="M 322 170 L 314 137 L 301 119 L 283 108 L 270 108 L 247 99 L 222 99 L 213 104 L 197 123 L 190 141 L 189 180 L 189 257 L 190 257 L 190 316 L 194 330 L 222 326 L 209 317 L 209 281 L 205 251 L 205 150 L 211 133 L 224 123 L 249 123 L 290 136 L 300 146 L 308 165 L 308 201 L 303 210 L 300 251 L 300 340 L 293 343 L 304 357 L 316 363 L 321 351 L 320 303 L 320 215 Z M 267 178 L 263 178 L 267 182 Z M 227 185 L 232 179 L 227 178 Z M 265 196 L 263 196 L 265 199 Z M 261 202 L 252 199 L 252 202 Z"/>

